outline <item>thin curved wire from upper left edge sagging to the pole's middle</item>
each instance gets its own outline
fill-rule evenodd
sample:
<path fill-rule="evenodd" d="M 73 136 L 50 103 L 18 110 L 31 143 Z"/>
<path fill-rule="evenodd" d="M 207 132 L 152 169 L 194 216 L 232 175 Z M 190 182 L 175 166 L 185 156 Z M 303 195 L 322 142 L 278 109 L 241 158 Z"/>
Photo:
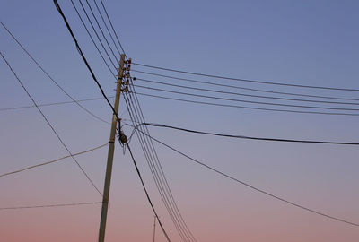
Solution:
<path fill-rule="evenodd" d="M 66 96 L 67 96 L 68 98 L 72 99 L 72 100 L 74 101 L 74 103 L 76 103 L 80 108 L 83 108 L 83 110 L 84 110 L 85 112 L 87 112 L 88 114 L 90 114 L 92 117 L 95 117 L 96 119 L 100 120 L 101 122 L 104 122 L 104 123 L 109 124 L 109 122 L 107 122 L 106 120 L 104 120 L 104 119 L 102 119 L 101 117 L 98 117 L 98 116 L 96 116 L 95 114 L 93 114 L 89 109 L 84 108 L 83 105 L 81 105 L 81 104 L 80 104 L 77 100 L 75 100 L 67 91 L 65 91 L 65 89 L 64 89 L 63 87 L 61 87 L 60 84 L 58 84 L 58 83 L 55 81 L 55 79 L 52 78 L 52 76 L 51 76 L 41 65 L 39 65 L 39 62 L 38 62 L 33 56 L 31 56 L 30 52 L 29 52 L 26 48 L 24 48 L 24 47 L 22 46 L 22 44 L 20 43 L 20 41 L 14 37 L 13 33 L 12 33 L 9 29 L 6 28 L 6 26 L 4 25 L 4 23 L 1 22 L 1 21 L 0 21 L 0 23 L 1 23 L 1 25 L 4 27 L 4 29 L 7 31 L 7 33 L 13 38 L 13 40 L 15 40 L 15 42 L 22 48 L 22 50 L 31 58 L 31 60 L 32 60 L 36 65 L 38 65 L 39 69 L 40 69 L 43 73 L 45 73 L 45 74 L 48 76 L 48 78 L 49 78 L 52 82 L 54 82 L 55 85 L 57 85 L 57 87 L 58 87 L 62 92 L 64 92 L 64 93 L 66 94 Z"/>

